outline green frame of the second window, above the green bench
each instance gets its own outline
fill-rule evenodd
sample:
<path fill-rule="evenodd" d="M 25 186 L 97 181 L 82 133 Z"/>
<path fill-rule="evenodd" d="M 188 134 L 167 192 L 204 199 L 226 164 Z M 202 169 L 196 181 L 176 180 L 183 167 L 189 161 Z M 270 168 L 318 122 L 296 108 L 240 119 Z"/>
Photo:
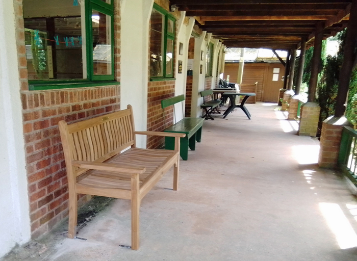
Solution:
<path fill-rule="evenodd" d="M 163 74 L 160 76 L 151 76 L 150 75 L 150 81 L 158 81 L 160 79 L 167 79 L 167 78 L 173 79 L 173 69 L 174 69 L 174 61 L 175 61 L 175 45 L 176 45 L 176 43 L 175 43 L 176 18 L 156 3 L 154 3 L 153 9 L 155 11 L 161 13 L 165 17 L 164 22 L 163 22 L 164 23 L 163 24 L 164 44 L 163 44 L 163 50 L 162 50 L 162 53 L 163 53 L 163 58 L 162 58 L 163 59 L 163 68 L 162 68 Z M 170 21 L 172 21 L 172 23 L 173 23 L 173 32 L 169 32 L 169 30 L 168 30 L 168 27 L 169 27 L 168 25 L 169 25 Z M 168 51 L 168 42 L 169 41 L 172 42 L 172 45 L 171 45 L 172 58 L 170 59 L 171 60 L 171 69 L 167 70 L 166 62 L 167 62 L 167 51 Z"/>

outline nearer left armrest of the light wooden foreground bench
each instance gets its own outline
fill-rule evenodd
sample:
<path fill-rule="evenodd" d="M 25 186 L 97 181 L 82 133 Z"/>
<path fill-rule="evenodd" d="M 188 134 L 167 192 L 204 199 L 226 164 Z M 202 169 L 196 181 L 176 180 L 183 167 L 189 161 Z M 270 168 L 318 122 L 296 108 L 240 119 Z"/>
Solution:
<path fill-rule="evenodd" d="M 145 168 L 125 166 L 113 163 L 100 163 L 89 161 L 72 161 L 72 165 L 84 169 L 105 170 L 113 172 L 126 172 L 130 174 L 142 174 L 146 171 Z"/>

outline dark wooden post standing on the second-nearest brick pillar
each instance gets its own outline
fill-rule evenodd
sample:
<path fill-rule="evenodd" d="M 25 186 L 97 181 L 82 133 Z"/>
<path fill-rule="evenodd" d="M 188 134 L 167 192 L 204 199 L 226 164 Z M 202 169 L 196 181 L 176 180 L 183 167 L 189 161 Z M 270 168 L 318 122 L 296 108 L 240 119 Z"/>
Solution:
<path fill-rule="evenodd" d="M 311 63 L 311 76 L 309 82 L 309 96 L 308 101 L 314 102 L 316 97 L 317 77 L 321 65 L 321 50 L 323 39 L 324 22 L 318 21 L 316 23 L 315 41 L 314 41 L 314 54 Z"/>

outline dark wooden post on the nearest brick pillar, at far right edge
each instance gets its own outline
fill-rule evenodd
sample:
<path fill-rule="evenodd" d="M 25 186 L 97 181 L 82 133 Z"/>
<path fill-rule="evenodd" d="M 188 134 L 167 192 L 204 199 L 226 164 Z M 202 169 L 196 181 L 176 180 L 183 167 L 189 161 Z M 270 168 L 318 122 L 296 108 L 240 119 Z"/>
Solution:
<path fill-rule="evenodd" d="M 349 21 L 347 24 L 347 36 L 345 43 L 345 51 L 343 54 L 343 62 L 340 70 L 339 89 L 336 98 L 335 116 L 342 117 L 345 113 L 345 102 L 348 95 L 349 83 L 355 59 L 355 46 L 357 43 L 357 1 L 352 1 Z"/>

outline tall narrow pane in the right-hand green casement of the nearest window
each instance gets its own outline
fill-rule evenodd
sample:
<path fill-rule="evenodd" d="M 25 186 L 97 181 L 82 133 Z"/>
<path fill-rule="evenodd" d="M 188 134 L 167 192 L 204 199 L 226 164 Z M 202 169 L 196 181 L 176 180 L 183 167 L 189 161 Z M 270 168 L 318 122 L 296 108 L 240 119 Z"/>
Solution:
<path fill-rule="evenodd" d="M 92 10 L 93 30 L 93 74 L 112 74 L 112 30 L 111 17 Z"/>

